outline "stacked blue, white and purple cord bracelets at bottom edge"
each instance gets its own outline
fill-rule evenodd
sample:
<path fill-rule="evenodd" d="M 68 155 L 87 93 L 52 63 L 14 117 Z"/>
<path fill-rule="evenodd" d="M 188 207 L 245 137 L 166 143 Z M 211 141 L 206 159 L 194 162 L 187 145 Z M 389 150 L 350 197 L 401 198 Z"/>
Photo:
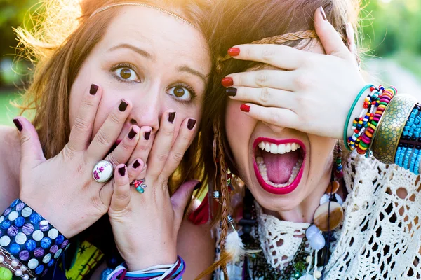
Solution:
<path fill-rule="evenodd" d="M 119 277 L 122 279 L 136 279 L 136 280 L 161 280 L 161 279 L 182 279 L 182 274 L 185 272 L 185 262 L 178 256 L 177 261 L 173 265 L 155 265 L 147 269 L 138 270 L 135 272 L 128 272 L 126 266 L 119 265 L 114 272 L 107 276 L 107 280 L 115 280 Z"/>

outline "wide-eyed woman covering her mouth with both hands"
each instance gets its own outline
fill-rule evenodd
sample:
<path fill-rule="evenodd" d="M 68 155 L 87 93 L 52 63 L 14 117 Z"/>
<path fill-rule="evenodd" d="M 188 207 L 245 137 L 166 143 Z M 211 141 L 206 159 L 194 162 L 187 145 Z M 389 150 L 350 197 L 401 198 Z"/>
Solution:
<path fill-rule="evenodd" d="M 212 244 L 208 228 L 185 221 L 177 237 L 200 186 L 188 180 L 201 176 L 196 128 L 210 74 L 202 32 L 208 1 L 44 3 L 34 33 L 18 29 L 36 58 L 22 105 L 34 119 L 20 116 L 18 130 L 0 130 L 2 275 L 43 276 L 72 237 L 81 257 L 111 231 L 109 223 L 91 227 L 107 213 L 128 269 L 174 264 L 179 254 L 197 263 L 186 275 L 197 275 L 211 260 L 188 248 Z M 131 224 L 122 218 L 133 216 Z M 91 243 L 76 239 L 83 231 Z M 85 262 L 73 260 L 67 277 L 98 279 L 107 265 L 94 270 L 112 246 L 108 239 Z M 48 279 L 58 276 L 49 270 Z"/>

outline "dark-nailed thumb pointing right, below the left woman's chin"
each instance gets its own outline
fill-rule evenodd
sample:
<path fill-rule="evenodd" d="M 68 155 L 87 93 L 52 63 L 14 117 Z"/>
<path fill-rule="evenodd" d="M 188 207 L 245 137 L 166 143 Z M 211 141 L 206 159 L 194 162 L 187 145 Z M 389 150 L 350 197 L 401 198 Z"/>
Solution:
<path fill-rule="evenodd" d="M 175 191 L 171 196 L 171 204 L 173 204 L 175 221 L 177 225 L 180 225 L 184 215 L 184 211 L 187 207 L 187 203 L 192 198 L 193 190 L 200 188 L 201 181 L 190 180 L 182 183 L 180 188 Z"/>

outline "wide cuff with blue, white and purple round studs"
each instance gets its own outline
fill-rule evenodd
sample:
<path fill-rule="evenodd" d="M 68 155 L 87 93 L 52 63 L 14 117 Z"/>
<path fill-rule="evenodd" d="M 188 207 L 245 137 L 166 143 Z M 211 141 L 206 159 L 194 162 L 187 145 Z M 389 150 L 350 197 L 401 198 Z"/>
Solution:
<path fill-rule="evenodd" d="M 0 246 L 36 275 L 46 274 L 69 245 L 69 239 L 19 199 L 0 216 Z"/>

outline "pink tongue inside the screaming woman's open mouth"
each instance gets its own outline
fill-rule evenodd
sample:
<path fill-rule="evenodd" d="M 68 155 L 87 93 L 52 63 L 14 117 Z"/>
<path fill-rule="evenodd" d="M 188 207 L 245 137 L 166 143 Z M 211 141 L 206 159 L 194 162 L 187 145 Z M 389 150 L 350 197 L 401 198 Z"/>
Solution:
<path fill-rule="evenodd" d="M 293 168 L 298 161 L 298 151 L 273 154 L 262 151 L 263 160 L 267 170 L 267 179 L 272 183 L 286 183 L 293 173 Z"/>

